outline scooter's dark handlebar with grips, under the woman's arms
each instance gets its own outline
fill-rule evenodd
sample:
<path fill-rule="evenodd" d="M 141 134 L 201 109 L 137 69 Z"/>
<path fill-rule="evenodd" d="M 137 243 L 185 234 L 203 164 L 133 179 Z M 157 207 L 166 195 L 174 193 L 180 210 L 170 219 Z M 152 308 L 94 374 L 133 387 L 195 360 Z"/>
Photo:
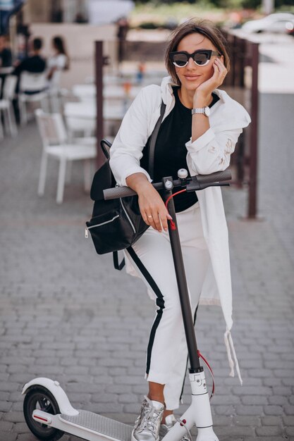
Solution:
<path fill-rule="evenodd" d="M 194 179 L 195 177 L 193 177 Z M 198 184 L 205 185 L 206 187 L 209 187 L 209 185 L 217 185 L 216 182 L 224 182 L 231 180 L 232 175 L 230 170 L 224 170 L 224 171 L 217 171 L 216 173 L 211 173 L 210 175 L 197 175 L 197 182 Z M 180 185 L 180 180 L 173 181 L 174 185 Z M 153 184 L 154 188 L 157 190 L 160 190 L 164 188 L 164 185 L 162 182 L 156 182 Z M 104 199 L 107 201 L 109 199 L 118 199 L 120 197 L 128 197 L 133 196 L 136 194 L 134 190 L 132 190 L 130 187 L 114 187 L 114 188 L 107 188 L 106 190 L 103 190 Z"/>

